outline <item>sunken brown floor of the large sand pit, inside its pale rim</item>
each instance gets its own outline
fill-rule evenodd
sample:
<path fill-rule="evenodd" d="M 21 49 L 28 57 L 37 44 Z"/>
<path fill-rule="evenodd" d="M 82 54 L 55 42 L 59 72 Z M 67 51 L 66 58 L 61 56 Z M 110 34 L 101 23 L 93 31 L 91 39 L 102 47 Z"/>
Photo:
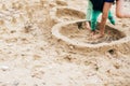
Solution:
<path fill-rule="evenodd" d="M 92 39 L 91 32 L 83 28 L 83 24 L 84 23 L 68 24 L 67 26 L 62 27 L 60 33 L 73 41 L 83 42 L 88 44 L 99 44 L 103 42 L 110 43 L 113 41 L 118 41 L 126 37 L 123 32 L 106 25 L 105 37 L 101 39 Z M 100 30 L 98 28 L 96 33 L 99 32 Z"/>

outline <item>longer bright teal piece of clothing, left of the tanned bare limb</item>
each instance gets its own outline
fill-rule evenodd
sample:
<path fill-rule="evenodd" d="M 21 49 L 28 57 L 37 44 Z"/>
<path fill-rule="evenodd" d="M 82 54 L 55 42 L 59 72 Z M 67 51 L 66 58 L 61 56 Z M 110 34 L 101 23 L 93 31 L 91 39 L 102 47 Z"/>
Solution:
<path fill-rule="evenodd" d="M 98 17 L 101 14 L 101 11 L 94 11 L 92 12 L 92 18 L 91 18 L 91 30 L 94 31 L 96 29 L 98 24 Z"/>

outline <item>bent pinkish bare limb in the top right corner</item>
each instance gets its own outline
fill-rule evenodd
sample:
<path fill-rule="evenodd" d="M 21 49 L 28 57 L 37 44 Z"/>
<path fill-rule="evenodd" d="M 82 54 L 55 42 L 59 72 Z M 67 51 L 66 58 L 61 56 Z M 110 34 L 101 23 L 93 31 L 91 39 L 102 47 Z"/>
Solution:
<path fill-rule="evenodd" d="M 116 16 L 119 18 L 130 18 L 130 12 L 126 12 L 123 9 L 125 0 L 118 0 L 116 2 Z"/>

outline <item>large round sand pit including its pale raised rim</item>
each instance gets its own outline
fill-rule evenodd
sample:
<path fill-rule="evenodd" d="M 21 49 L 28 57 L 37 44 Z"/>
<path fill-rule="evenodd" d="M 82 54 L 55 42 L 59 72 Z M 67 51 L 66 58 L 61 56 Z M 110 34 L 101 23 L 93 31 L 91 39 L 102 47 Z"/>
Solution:
<path fill-rule="evenodd" d="M 84 20 L 82 19 L 57 24 L 52 28 L 52 34 L 57 40 L 75 47 L 74 49 L 83 49 L 83 52 L 106 52 L 109 49 L 118 49 L 125 53 L 130 52 L 130 39 L 126 33 L 106 25 L 105 37 L 91 40 L 90 31 L 79 29 L 79 24 L 82 27 L 83 23 Z"/>

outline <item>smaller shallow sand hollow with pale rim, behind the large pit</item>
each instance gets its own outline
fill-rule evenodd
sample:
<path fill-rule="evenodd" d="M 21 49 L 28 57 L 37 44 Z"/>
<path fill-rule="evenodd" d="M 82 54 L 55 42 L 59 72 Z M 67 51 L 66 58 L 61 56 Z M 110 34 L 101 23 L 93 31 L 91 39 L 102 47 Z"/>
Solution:
<path fill-rule="evenodd" d="M 83 19 L 86 14 L 68 6 L 56 6 L 51 11 L 51 17 L 57 22 Z"/>

